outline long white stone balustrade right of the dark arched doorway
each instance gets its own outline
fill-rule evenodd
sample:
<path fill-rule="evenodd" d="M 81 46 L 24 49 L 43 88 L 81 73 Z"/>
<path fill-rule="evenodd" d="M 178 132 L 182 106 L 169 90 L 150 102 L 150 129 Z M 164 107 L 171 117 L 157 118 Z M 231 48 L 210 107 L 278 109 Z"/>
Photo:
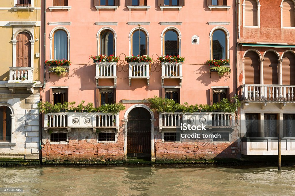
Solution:
<path fill-rule="evenodd" d="M 226 112 L 163 112 L 159 114 L 159 130 L 180 127 L 183 120 L 206 124 L 207 127 L 234 127 L 235 115 Z"/>

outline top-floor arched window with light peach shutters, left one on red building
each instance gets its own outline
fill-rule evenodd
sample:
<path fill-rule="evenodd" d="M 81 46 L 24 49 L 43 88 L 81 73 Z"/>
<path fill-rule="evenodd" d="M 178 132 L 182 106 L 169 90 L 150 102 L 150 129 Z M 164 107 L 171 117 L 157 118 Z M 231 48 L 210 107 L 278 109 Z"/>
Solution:
<path fill-rule="evenodd" d="M 258 26 L 258 11 L 256 0 L 245 0 L 244 26 Z"/>

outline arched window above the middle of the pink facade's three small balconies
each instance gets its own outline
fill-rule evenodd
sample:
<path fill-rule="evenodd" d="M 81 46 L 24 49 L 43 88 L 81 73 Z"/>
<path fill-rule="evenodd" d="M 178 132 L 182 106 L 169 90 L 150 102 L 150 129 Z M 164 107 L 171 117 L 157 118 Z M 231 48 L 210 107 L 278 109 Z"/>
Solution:
<path fill-rule="evenodd" d="M 147 35 L 142 30 L 136 30 L 132 34 L 132 51 L 131 54 L 134 56 L 137 55 L 146 55 L 147 51 Z"/>

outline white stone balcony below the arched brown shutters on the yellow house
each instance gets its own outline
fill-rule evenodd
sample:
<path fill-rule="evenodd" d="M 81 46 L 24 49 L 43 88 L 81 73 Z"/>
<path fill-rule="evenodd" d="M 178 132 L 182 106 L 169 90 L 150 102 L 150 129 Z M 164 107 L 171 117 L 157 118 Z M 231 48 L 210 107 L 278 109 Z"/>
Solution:
<path fill-rule="evenodd" d="M 14 93 L 15 88 L 27 88 L 28 92 L 33 93 L 38 85 L 33 80 L 33 67 L 9 67 L 9 80 L 5 83 L 9 91 Z"/>

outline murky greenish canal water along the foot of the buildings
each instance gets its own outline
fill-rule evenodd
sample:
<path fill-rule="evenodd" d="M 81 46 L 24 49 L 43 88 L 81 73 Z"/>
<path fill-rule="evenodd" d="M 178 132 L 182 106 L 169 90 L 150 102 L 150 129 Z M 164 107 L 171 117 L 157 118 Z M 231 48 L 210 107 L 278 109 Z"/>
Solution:
<path fill-rule="evenodd" d="M 295 195 L 295 168 L 0 168 L 0 195 Z"/>

